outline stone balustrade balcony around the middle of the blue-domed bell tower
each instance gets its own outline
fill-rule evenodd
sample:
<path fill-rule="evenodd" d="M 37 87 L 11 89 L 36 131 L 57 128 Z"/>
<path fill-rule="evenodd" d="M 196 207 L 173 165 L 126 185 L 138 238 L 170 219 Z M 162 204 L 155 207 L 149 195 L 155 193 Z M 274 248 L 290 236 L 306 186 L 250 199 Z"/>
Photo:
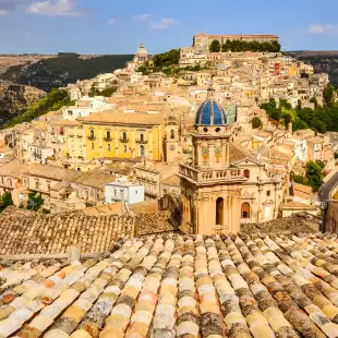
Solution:
<path fill-rule="evenodd" d="M 188 165 L 180 165 L 180 176 L 190 181 L 200 184 L 207 184 L 210 182 L 243 182 L 248 179 L 244 177 L 242 169 L 227 168 L 227 169 L 196 169 Z"/>

